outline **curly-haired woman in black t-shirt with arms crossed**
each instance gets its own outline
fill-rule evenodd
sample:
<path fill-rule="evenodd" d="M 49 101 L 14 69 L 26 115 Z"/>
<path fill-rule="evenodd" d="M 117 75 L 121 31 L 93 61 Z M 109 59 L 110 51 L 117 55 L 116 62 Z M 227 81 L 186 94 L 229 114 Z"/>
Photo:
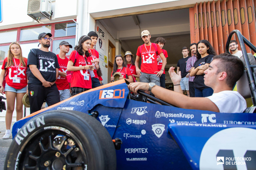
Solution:
<path fill-rule="evenodd" d="M 204 84 L 204 71 L 208 69 L 209 64 L 212 62 L 215 50 L 207 40 L 199 41 L 196 48 L 197 61 L 190 72 L 190 76 L 195 76 L 195 97 L 208 97 L 213 94 L 213 89 Z"/>

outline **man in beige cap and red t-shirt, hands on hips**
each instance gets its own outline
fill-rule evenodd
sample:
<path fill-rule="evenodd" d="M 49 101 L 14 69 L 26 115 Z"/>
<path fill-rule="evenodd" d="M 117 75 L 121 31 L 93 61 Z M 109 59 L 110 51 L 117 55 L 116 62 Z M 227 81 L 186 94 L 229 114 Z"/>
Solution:
<path fill-rule="evenodd" d="M 136 73 L 140 76 L 141 82 L 152 82 L 158 86 L 160 86 L 160 76 L 164 72 L 164 68 L 166 65 L 166 58 L 163 54 L 162 49 L 158 44 L 150 42 L 150 34 L 148 30 L 144 30 L 141 32 L 141 38 L 144 41 L 144 44 L 138 47 L 136 53 Z M 158 71 L 157 65 L 157 56 L 160 56 L 163 64 L 160 71 Z M 141 57 L 141 69 L 139 68 L 139 60 Z"/>

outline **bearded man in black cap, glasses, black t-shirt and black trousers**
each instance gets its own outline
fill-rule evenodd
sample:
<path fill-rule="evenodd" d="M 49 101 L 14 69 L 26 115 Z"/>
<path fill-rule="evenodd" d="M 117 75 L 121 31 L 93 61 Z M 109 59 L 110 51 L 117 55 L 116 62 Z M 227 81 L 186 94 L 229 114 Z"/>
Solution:
<path fill-rule="evenodd" d="M 57 56 L 49 51 L 51 36 L 50 33 L 39 34 L 41 48 L 31 49 L 28 55 L 30 114 L 40 110 L 44 101 L 48 106 L 60 102 L 60 93 L 55 84 L 60 66 Z"/>

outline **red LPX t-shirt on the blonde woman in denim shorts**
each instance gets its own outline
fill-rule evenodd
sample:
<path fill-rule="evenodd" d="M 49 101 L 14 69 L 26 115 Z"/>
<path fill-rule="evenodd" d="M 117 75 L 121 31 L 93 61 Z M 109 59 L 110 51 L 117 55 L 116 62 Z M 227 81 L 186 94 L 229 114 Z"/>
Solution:
<path fill-rule="evenodd" d="M 15 60 L 16 64 L 14 63 L 14 60 Z M 22 66 L 22 64 L 20 66 L 19 59 L 14 58 L 14 60 L 13 60 L 13 63 L 16 66 L 10 66 L 10 67 L 6 68 L 6 71 L 8 71 L 8 73 L 6 74 L 5 81 L 9 86 L 11 86 L 15 89 L 22 89 L 22 88 L 26 87 L 28 84 L 27 83 L 27 74 L 26 74 L 28 59 L 24 58 L 25 66 Z M 5 63 L 7 63 L 7 62 L 8 62 L 8 59 L 4 58 L 2 69 L 4 69 Z M 20 78 L 20 83 L 13 82 L 13 79 L 16 76 L 18 78 Z"/>

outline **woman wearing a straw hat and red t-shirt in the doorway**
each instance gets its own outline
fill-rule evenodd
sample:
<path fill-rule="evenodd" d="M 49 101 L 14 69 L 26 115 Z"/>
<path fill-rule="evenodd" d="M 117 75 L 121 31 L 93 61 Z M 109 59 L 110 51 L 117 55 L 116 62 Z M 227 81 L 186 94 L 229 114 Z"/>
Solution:
<path fill-rule="evenodd" d="M 124 66 L 129 68 L 132 73 L 133 82 L 136 82 L 136 78 L 140 78 L 140 76 L 136 73 L 136 67 L 133 61 L 133 54 L 130 51 L 126 51 L 124 57 Z"/>

